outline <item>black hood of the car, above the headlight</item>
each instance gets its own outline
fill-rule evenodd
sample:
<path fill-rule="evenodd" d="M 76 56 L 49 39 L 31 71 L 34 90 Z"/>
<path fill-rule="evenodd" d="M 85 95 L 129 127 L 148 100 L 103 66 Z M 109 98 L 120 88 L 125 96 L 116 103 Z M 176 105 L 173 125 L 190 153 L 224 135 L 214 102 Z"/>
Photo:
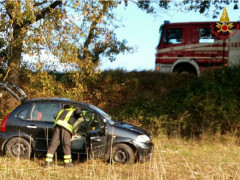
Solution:
<path fill-rule="evenodd" d="M 146 130 L 144 130 L 140 127 L 134 126 L 132 124 L 127 124 L 127 123 L 123 123 L 123 122 L 116 123 L 114 125 L 114 128 L 117 131 L 131 132 L 131 133 L 136 134 L 136 135 L 145 134 L 145 135 L 150 137 L 150 134 Z"/>

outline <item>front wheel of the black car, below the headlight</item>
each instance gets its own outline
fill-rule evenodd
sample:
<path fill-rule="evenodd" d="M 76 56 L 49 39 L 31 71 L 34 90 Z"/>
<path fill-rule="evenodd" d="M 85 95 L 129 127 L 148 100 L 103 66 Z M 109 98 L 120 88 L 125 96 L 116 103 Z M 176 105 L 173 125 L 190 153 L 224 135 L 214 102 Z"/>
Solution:
<path fill-rule="evenodd" d="M 112 161 L 122 164 L 134 163 L 134 152 L 132 148 L 126 144 L 117 144 L 112 150 Z"/>

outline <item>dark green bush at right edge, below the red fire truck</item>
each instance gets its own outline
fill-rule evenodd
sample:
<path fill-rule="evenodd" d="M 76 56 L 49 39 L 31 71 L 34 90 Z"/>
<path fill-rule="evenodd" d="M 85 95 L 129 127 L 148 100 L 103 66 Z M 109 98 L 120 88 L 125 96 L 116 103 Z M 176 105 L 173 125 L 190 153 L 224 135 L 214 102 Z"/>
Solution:
<path fill-rule="evenodd" d="M 188 87 L 183 105 L 191 116 L 186 129 L 197 134 L 235 133 L 240 127 L 239 77 L 239 67 L 218 69 Z"/>

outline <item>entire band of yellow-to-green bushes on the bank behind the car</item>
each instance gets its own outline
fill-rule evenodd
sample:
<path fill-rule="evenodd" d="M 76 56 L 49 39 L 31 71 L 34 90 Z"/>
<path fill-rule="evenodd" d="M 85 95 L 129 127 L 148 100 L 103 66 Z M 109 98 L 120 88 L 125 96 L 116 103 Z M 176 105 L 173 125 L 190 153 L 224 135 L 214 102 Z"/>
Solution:
<path fill-rule="evenodd" d="M 240 136 L 240 67 L 208 71 L 200 78 L 123 70 L 96 75 L 88 68 L 81 73 L 22 69 L 21 84 L 29 97 L 90 102 L 115 120 L 137 124 L 152 134 Z"/>

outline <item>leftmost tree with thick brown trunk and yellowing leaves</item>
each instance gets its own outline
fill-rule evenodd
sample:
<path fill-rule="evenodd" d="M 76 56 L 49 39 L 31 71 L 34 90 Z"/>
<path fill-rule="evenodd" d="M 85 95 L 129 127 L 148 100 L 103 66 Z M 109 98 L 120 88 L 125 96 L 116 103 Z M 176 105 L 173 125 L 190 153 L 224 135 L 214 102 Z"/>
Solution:
<path fill-rule="evenodd" d="M 19 71 L 24 39 L 35 22 L 46 17 L 51 9 L 62 4 L 62 1 L 54 1 L 46 5 L 46 1 L 20 0 L 1 2 L 1 31 L 8 40 L 10 51 L 7 54 L 9 79 L 13 83 L 19 82 Z M 40 6 L 43 6 L 40 8 Z"/>

